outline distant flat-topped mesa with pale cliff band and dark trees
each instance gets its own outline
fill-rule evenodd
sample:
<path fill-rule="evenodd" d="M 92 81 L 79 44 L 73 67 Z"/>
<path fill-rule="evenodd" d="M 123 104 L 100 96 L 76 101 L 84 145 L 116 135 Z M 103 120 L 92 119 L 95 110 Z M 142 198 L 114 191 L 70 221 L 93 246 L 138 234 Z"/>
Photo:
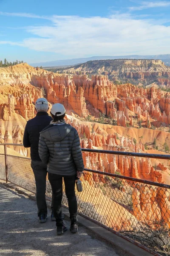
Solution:
<path fill-rule="evenodd" d="M 59 73 L 108 75 L 113 81 L 142 83 L 144 85 L 158 82 L 166 85 L 170 77 L 170 67 L 161 60 L 115 59 L 88 61 L 71 68 L 57 70 Z M 163 77 L 164 79 L 161 79 Z"/>

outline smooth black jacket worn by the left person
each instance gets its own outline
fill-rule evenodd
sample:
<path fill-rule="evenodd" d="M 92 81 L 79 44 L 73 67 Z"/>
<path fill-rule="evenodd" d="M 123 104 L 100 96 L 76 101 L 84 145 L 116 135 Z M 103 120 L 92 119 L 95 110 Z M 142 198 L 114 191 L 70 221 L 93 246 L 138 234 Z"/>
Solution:
<path fill-rule="evenodd" d="M 23 137 L 23 145 L 25 148 L 31 148 L 31 160 L 40 160 L 38 154 L 38 142 L 40 131 L 42 131 L 51 122 L 52 117 L 47 112 L 40 111 L 37 115 L 29 120 L 26 124 Z"/>

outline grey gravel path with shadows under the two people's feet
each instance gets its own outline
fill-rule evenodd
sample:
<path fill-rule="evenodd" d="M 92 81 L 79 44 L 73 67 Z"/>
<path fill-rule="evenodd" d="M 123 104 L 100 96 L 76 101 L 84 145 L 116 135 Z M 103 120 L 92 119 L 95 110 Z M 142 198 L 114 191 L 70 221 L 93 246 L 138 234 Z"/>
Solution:
<path fill-rule="evenodd" d="M 65 221 L 69 227 L 69 222 Z M 0 256 L 118 256 L 114 248 L 79 227 L 56 235 L 55 222 L 40 224 L 36 202 L 0 185 Z"/>

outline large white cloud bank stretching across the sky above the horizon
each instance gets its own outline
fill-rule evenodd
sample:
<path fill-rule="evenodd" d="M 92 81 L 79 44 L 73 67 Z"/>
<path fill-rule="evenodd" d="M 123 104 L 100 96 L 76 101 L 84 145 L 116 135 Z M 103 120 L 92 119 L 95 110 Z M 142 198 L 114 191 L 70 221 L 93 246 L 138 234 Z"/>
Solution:
<path fill-rule="evenodd" d="M 51 20 L 51 26 L 29 26 L 26 30 L 32 37 L 21 42 L 3 41 L 3 44 L 54 52 L 65 55 L 66 58 L 90 55 L 153 55 L 169 52 L 170 26 L 155 23 L 155 20 L 137 20 L 127 14 L 111 17 L 44 18 Z"/>

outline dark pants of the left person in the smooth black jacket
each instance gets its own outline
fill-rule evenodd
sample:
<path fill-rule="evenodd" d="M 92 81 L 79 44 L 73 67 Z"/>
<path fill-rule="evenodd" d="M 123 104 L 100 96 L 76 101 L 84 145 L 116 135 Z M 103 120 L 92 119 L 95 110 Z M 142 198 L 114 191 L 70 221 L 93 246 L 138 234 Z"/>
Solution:
<path fill-rule="evenodd" d="M 47 166 L 42 163 L 42 161 L 31 160 L 31 167 L 35 177 L 38 216 L 40 216 L 40 214 L 47 214 L 47 204 L 45 200 Z M 51 203 L 51 210 L 52 209 L 53 200 Z"/>

